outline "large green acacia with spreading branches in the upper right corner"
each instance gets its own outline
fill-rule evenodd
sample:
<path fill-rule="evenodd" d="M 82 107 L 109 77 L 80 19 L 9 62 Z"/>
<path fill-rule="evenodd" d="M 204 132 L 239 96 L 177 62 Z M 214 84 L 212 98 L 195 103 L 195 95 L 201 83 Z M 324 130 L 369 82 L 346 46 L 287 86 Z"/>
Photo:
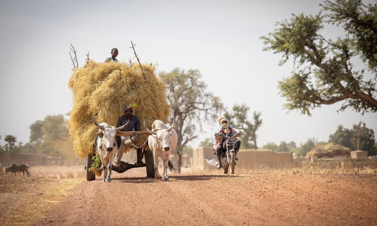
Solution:
<path fill-rule="evenodd" d="M 279 82 L 280 94 L 287 99 L 284 107 L 310 115 L 313 108 L 342 101 L 340 110 L 376 112 L 377 4 L 336 0 L 321 6 L 324 15 L 293 14 L 261 37 L 264 50 L 283 54 L 280 65 L 290 57 L 295 61 L 292 75 Z M 346 36 L 335 41 L 323 37 L 326 22 L 342 26 Z M 374 79 L 365 79 L 365 70 L 355 70 L 352 57 L 361 58 Z"/>

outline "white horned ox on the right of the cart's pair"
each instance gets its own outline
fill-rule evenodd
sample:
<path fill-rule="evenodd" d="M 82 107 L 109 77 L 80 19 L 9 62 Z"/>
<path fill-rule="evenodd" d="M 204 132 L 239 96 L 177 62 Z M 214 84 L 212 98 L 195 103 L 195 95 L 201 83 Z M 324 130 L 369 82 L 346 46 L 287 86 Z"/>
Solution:
<path fill-rule="evenodd" d="M 155 177 L 156 180 L 160 178 L 158 173 L 158 157 L 162 159 L 162 165 L 164 166 L 164 173 L 162 174 L 162 180 L 168 181 L 167 169 L 169 167 L 170 171 L 175 170 L 174 165 L 170 162 L 169 156 L 170 152 L 173 152 L 177 146 L 178 136 L 174 130 L 175 120 L 173 119 L 173 124 L 169 127 L 164 122 L 156 120 L 152 124 L 152 128 L 155 131 L 150 131 L 144 120 L 145 129 L 151 134 L 148 137 L 148 145 L 150 150 L 153 152 L 155 157 Z"/>

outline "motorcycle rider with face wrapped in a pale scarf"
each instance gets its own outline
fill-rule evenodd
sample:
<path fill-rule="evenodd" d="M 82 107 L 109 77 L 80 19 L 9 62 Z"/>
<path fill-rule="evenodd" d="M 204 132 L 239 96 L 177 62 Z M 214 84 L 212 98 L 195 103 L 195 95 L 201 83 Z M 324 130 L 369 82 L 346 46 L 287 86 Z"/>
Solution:
<path fill-rule="evenodd" d="M 217 169 L 219 170 L 222 166 L 222 160 L 221 155 L 225 151 L 227 151 L 227 147 L 225 147 L 225 137 L 227 134 L 236 134 L 237 131 L 231 127 L 229 127 L 229 120 L 221 117 L 219 118 L 219 124 L 221 125 L 221 128 L 219 128 L 215 133 L 215 144 L 213 145 L 214 150 L 216 150 L 216 155 L 218 159 L 218 165 Z M 238 132 L 239 135 L 237 137 L 242 136 L 242 132 Z M 224 134 L 224 136 L 222 136 Z M 220 135 L 220 136 L 219 136 Z M 239 148 L 241 147 L 241 140 L 238 140 L 237 137 L 234 137 L 234 146 L 236 151 L 236 156 L 238 153 Z M 237 157 L 235 157 L 235 160 L 238 160 Z"/>

